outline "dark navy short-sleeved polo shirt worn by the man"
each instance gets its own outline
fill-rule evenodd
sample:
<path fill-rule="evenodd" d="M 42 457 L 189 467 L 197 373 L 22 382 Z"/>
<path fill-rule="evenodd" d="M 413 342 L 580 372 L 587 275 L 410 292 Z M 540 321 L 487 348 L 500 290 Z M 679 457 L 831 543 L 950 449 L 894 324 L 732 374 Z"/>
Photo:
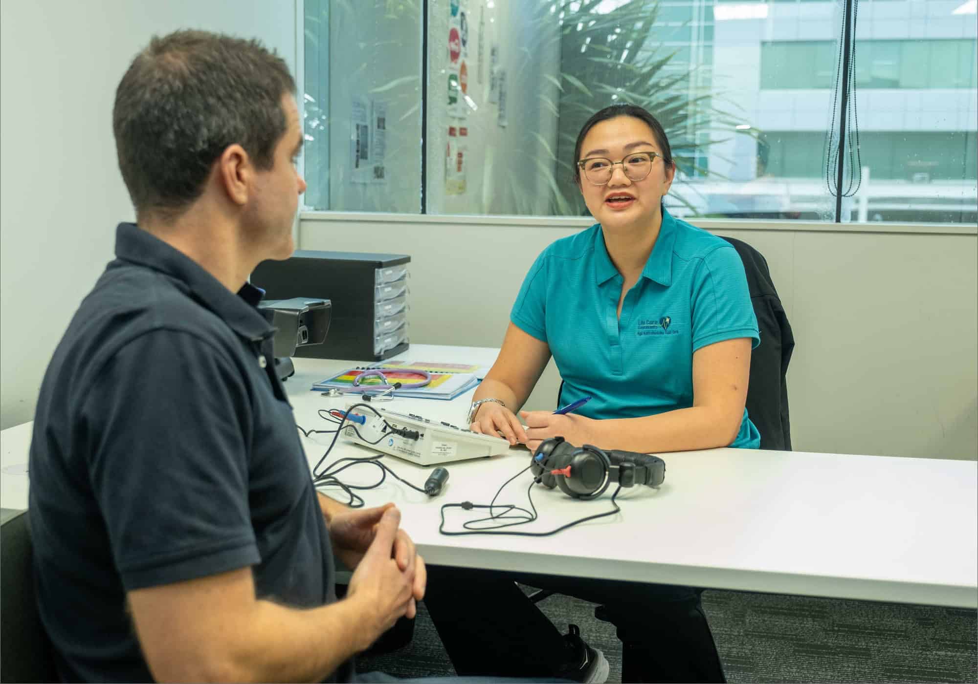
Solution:
<path fill-rule="evenodd" d="M 335 600 L 259 291 L 132 224 L 115 254 L 48 366 L 30 445 L 38 602 L 67 681 L 152 679 L 127 591 L 250 567 L 259 598 Z"/>

